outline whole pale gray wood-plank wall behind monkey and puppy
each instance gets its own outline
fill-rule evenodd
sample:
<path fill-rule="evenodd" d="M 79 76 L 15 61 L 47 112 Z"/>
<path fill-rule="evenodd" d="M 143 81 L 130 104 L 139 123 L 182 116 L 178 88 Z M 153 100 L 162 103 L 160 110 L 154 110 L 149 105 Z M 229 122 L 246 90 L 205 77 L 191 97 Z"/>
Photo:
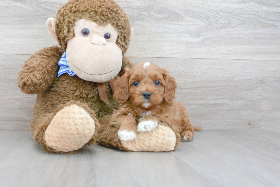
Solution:
<path fill-rule="evenodd" d="M 65 0 L 0 1 L 0 129 L 28 129 L 35 95 L 17 87 L 45 23 Z M 207 130 L 280 130 L 280 1 L 118 0 L 134 29 L 127 56 L 167 67 L 177 101 Z"/>

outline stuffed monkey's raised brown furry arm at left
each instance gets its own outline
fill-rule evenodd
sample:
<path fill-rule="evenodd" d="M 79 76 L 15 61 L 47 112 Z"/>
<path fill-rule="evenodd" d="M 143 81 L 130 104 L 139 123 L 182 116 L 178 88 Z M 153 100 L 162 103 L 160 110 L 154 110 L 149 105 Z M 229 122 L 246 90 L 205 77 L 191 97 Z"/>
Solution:
<path fill-rule="evenodd" d="M 24 62 L 18 73 L 17 85 L 26 94 L 45 91 L 57 75 L 57 63 L 63 51 L 57 47 L 47 47 L 35 52 Z"/>

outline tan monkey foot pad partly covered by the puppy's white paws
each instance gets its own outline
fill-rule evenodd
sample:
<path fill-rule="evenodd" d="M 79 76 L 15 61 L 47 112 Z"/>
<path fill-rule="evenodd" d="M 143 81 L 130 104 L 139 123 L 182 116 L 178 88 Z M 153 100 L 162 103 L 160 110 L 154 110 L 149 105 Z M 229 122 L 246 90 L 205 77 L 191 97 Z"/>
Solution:
<path fill-rule="evenodd" d="M 159 125 L 153 132 L 142 132 L 132 141 L 121 141 L 123 147 L 131 151 L 163 152 L 173 151 L 176 135 L 171 128 Z"/>

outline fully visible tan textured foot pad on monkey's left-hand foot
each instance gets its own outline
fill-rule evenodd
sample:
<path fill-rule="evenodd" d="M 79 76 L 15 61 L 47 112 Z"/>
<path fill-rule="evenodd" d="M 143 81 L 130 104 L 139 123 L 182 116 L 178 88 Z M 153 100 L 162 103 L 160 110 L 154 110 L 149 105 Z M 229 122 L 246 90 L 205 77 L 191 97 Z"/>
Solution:
<path fill-rule="evenodd" d="M 92 138 L 95 121 L 76 104 L 59 110 L 45 131 L 46 145 L 56 151 L 70 152 L 82 148 Z"/>

